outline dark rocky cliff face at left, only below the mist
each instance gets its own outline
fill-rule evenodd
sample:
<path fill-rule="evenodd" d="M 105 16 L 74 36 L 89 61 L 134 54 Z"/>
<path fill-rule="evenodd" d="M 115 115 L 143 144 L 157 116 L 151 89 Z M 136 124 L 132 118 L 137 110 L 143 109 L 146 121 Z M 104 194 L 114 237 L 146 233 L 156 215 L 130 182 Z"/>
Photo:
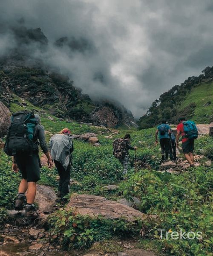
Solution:
<path fill-rule="evenodd" d="M 107 101 L 93 102 L 73 84 L 66 76 L 37 68 L 8 67 L 0 73 L 1 99 L 7 106 L 15 93 L 60 118 L 107 127 L 133 124 L 132 114 L 123 106 Z"/>

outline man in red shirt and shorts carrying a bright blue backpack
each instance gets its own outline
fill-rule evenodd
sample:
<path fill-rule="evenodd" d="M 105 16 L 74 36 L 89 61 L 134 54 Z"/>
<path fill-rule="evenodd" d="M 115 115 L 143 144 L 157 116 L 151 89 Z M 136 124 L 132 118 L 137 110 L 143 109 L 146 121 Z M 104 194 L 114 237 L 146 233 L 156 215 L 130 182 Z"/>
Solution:
<path fill-rule="evenodd" d="M 191 167 L 194 167 L 194 140 L 198 137 L 198 130 L 193 121 L 186 121 L 184 117 L 179 118 L 179 124 L 177 126 L 176 146 L 180 136 L 182 136 L 182 149 L 184 156 L 190 163 Z"/>

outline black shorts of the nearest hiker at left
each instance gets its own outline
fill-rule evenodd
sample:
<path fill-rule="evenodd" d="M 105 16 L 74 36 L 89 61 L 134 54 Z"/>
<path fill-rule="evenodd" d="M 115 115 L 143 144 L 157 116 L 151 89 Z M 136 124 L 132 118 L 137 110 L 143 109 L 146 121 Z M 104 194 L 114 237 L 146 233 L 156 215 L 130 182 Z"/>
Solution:
<path fill-rule="evenodd" d="M 32 156 L 17 155 L 14 157 L 23 179 L 27 182 L 40 180 L 40 159 L 37 153 Z"/>

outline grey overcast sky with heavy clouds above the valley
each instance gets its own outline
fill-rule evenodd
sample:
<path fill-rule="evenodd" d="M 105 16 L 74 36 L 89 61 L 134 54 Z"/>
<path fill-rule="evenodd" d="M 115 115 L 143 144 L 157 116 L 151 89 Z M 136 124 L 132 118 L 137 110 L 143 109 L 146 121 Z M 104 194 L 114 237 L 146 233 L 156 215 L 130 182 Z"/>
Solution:
<path fill-rule="evenodd" d="M 32 56 L 68 74 L 89 96 L 118 99 L 142 116 L 161 93 L 213 66 L 212 0 L 0 0 L 3 28 L 40 27 L 49 40 Z M 7 32 L 6 32 L 7 31 Z M 0 34 L 0 52 L 17 42 Z M 86 49 L 58 48 L 67 36 Z"/>

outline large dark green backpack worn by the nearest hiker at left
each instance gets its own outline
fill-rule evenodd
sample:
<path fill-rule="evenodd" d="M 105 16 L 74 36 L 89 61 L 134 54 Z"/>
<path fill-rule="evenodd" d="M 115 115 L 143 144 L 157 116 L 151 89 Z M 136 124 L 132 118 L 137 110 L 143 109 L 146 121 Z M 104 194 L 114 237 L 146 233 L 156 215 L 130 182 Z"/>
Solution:
<path fill-rule="evenodd" d="M 11 117 L 4 151 L 9 156 L 31 155 L 35 148 L 35 115 L 30 111 L 19 111 Z"/>

